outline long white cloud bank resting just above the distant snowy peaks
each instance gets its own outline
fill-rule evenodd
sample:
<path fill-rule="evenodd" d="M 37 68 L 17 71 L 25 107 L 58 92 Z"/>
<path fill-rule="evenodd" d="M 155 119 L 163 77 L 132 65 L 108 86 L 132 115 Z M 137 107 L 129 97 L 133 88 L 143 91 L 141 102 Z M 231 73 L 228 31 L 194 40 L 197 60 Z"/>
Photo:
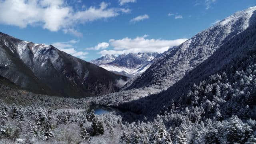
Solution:
<path fill-rule="evenodd" d="M 120 40 L 109 40 L 112 50 L 102 50 L 99 54 L 128 54 L 138 52 L 165 52 L 173 46 L 185 42 L 187 39 L 162 40 L 146 39 L 148 35 L 132 38 L 123 38 Z"/>

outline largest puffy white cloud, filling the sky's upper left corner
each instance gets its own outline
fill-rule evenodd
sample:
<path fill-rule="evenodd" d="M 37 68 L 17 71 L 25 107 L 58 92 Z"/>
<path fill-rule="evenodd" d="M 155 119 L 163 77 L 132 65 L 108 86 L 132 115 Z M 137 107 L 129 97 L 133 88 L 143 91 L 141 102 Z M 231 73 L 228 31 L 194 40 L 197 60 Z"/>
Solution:
<path fill-rule="evenodd" d="M 81 36 L 74 30 L 76 24 L 111 18 L 129 9 L 108 8 L 100 3 L 85 10 L 74 10 L 64 0 L 0 0 L 0 23 L 25 28 L 40 25 L 50 31 L 63 29 L 66 33 Z"/>

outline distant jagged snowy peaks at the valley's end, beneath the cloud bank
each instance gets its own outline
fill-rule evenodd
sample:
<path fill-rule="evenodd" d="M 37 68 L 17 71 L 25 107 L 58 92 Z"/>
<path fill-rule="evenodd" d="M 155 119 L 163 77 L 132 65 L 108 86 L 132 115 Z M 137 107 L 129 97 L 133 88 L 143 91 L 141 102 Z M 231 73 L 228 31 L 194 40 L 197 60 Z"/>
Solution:
<path fill-rule="evenodd" d="M 133 77 L 145 72 L 157 55 L 156 52 L 121 54 L 117 57 L 106 55 L 90 62 L 116 74 Z"/>

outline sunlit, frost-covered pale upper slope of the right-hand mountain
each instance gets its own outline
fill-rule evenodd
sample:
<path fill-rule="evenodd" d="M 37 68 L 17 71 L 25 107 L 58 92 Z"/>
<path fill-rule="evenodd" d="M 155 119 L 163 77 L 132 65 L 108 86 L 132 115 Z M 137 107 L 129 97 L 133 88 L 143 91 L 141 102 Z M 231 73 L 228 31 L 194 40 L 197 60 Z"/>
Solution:
<path fill-rule="evenodd" d="M 170 49 L 166 57 L 152 64 L 146 72 L 134 80 L 129 89 L 158 85 L 158 89 L 166 90 L 190 70 L 204 62 L 230 38 L 254 24 L 255 10 L 256 7 L 252 7 L 236 12 L 196 34 L 180 46 Z"/>

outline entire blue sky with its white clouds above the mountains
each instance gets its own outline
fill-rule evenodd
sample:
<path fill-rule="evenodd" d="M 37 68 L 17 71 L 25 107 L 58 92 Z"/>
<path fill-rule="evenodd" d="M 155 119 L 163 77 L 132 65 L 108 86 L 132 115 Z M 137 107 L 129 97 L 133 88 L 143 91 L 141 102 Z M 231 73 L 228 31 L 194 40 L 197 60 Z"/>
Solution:
<path fill-rule="evenodd" d="M 255 0 L 0 0 L 0 31 L 86 61 L 164 52 Z"/>

